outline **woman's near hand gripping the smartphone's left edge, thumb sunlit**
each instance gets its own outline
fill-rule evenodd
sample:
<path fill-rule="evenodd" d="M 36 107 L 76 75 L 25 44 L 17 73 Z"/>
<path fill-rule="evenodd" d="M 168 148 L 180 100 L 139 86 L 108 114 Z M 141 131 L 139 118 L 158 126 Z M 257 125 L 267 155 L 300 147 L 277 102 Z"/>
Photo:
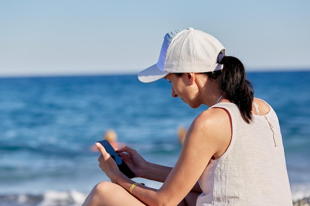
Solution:
<path fill-rule="evenodd" d="M 101 155 L 98 158 L 99 167 L 103 172 L 110 178 L 111 182 L 114 182 L 115 175 L 120 173 L 118 166 L 112 157 L 105 151 L 104 147 L 100 143 L 96 143 L 98 150 L 101 152 Z"/>

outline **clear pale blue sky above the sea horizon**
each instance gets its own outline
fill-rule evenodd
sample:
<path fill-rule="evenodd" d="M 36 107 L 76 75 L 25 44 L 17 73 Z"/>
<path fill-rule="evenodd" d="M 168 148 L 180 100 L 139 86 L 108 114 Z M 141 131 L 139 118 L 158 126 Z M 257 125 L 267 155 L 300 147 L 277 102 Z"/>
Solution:
<path fill-rule="evenodd" d="M 0 76 L 137 73 L 163 36 L 215 36 L 248 71 L 310 69 L 310 0 L 0 0 Z"/>

